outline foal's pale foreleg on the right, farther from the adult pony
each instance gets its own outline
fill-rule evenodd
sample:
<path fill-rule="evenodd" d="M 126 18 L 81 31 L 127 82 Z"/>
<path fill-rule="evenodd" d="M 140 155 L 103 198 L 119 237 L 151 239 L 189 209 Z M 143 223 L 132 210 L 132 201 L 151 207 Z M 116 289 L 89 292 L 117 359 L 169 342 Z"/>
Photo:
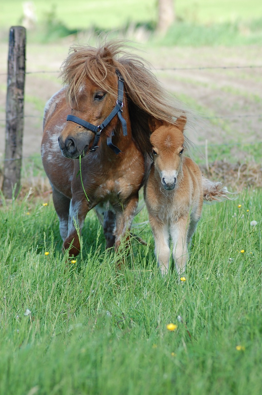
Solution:
<path fill-rule="evenodd" d="M 180 217 L 170 226 L 170 235 L 173 242 L 173 258 L 179 276 L 186 270 L 188 260 L 188 217 Z"/>

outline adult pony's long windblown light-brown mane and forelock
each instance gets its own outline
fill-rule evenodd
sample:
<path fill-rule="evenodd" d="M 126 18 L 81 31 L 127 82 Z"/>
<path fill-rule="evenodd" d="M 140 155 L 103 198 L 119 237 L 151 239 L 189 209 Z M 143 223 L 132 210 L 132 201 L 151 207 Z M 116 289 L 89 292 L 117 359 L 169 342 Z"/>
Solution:
<path fill-rule="evenodd" d="M 110 85 L 111 79 L 107 77 L 115 75 L 116 69 L 124 78 L 134 140 L 142 152 L 150 152 L 149 117 L 175 123 L 176 118 L 186 110 L 182 103 L 162 88 L 143 58 L 133 53 L 130 55 L 130 47 L 124 41 L 104 41 L 97 48 L 72 46 L 61 68 L 63 82 L 67 85 L 67 98 L 69 102 L 75 98 L 87 76 L 99 87 L 114 94 L 115 87 Z"/>

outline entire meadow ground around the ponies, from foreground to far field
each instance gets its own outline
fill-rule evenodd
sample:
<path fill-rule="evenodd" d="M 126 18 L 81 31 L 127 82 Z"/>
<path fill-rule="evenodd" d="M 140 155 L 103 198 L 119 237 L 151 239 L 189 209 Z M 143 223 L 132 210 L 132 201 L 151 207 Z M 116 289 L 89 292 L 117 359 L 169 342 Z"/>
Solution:
<path fill-rule="evenodd" d="M 54 31 L 91 26 L 92 40 L 96 29 L 156 22 L 149 0 L 59 0 L 54 12 L 50 1 L 34 4 L 41 28 L 48 18 Z M 12 0 L 1 7 L 4 139 L 8 30 L 22 6 Z M 204 205 L 183 281 L 173 267 L 160 275 L 145 208 L 132 232 L 147 246 L 132 239 L 128 253 L 105 250 L 90 212 L 81 254 L 61 253 L 39 154 L 43 107 L 61 86 L 69 45 L 87 36 L 54 41 L 52 29 L 28 33 L 22 190 L 10 200 L 0 196 L 0 394 L 262 393 L 261 7 L 258 0 L 177 1 L 179 26 L 140 43 L 164 87 L 195 111 L 187 133 L 197 163 L 226 182 L 230 171 L 217 173 L 215 163 L 236 165 L 227 185 L 238 193 Z M 2 158 L 0 147 L 0 179 Z M 119 256 L 124 266 L 116 270 Z"/>

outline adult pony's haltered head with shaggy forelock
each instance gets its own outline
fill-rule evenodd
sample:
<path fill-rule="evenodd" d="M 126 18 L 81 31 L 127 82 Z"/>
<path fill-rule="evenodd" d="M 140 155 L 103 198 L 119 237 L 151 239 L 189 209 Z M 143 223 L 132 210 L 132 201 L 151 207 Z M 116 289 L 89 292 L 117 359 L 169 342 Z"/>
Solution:
<path fill-rule="evenodd" d="M 71 114 L 58 141 L 64 156 L 78 158 L 91 147 L 94 150 L 92 144 L 97 145 L 100 134 L 101 139 L 111 137 L 119 123 L 117 112 L 107 124 L 104 121 L 117 103 L 119 112 L 128 117 L 126 95 L 122 85 L 121 102 L 117 101 L 120 74 L 107 47 L 74 48 L 63 64 L 62 76 Z"/>

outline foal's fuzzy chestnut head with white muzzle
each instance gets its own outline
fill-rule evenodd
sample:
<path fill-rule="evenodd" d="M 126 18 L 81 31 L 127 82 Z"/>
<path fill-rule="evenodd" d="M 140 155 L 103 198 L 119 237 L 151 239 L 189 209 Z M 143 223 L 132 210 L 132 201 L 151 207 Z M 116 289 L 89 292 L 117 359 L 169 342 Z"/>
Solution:
<path fill-rule="evenodd" d="M 152 130 L 156 128 L 150 138 L 154 167 L 166 190 L 173 190 L 177 183 L 184 151 L 185 124 L 186 117 L 182 116 L 175 124 L 154 120 L 150 125 Z"/>

